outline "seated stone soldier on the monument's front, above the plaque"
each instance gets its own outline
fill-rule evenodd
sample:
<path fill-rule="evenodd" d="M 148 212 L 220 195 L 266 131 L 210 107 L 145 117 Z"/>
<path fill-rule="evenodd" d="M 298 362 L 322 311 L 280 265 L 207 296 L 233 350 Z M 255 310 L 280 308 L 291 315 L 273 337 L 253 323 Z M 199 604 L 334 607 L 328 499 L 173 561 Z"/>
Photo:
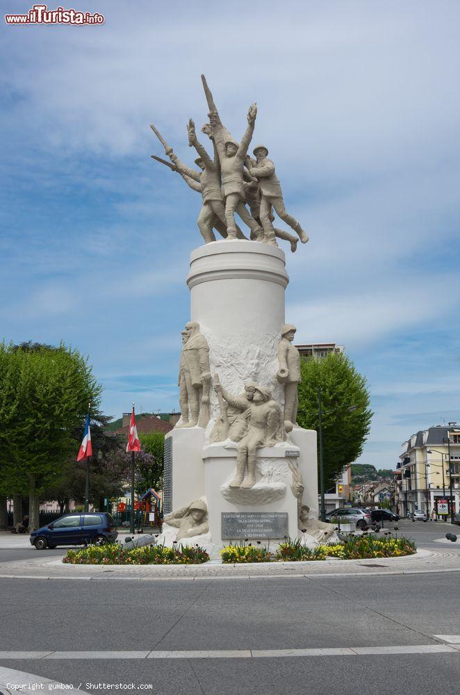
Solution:
<path fill-rule="evenodd" d="M 274 446 L 286 439 L 283 412 L 279 403 L 273 400 L 272 392 L 267 386 L 249 382 L 254 393 L 252 399 L 245 390 L 243 398 L 233 396 L 224 389 L 218 379 L 214 380 L 214 390 L 222 393 L 229 406 L 240 411 L 247 422 L 247 431 L 236 447 L 236 475 L 229 483 L 230 487 L 250 488 L 256 484 L 257 449 Z"/>

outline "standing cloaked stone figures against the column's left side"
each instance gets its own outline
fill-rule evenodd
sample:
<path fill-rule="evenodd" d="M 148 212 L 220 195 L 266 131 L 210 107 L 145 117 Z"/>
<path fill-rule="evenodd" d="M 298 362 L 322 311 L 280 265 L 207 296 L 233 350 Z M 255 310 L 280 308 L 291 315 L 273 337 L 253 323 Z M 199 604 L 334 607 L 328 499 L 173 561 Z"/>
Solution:
<path fill-rule="evenodd" d="M 182 332 L 182 342 L 179 387 L 182 390 L 183 422 L 176 427 L 196 427 L 196 425 L 206 427 L 209 422 L 211 371 L 209 347 L 206 338 L 199 332 L 199 323 L 196 321 L 186 323 L 186 329 Z M 186 414 L 185 417 L 184 414 Z"/>

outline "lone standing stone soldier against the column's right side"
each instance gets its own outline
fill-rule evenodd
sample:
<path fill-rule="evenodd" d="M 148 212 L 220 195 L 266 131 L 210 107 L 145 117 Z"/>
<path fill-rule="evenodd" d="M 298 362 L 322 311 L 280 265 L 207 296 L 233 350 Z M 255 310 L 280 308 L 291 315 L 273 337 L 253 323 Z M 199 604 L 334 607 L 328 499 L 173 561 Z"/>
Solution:
<path fill-rule="evenodd" d="M 295 326 L 286 323 L 281 327 L 281 341 L 278 343 L 277 380 L 284 384 L 284 420 L 290 425 L 295 425 L 297 420 L 297 384 L 302 381 L 300 353 L 293 345 L 296 330 Z"/>

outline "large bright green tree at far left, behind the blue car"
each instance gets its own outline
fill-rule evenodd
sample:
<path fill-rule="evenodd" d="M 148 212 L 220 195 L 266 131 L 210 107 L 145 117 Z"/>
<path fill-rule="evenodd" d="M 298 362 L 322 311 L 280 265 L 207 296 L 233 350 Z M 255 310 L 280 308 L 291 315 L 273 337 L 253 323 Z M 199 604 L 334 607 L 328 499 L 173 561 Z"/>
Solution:
<path fill-rule="evenodd" d="M 29 496 L 38 528 L 40 493 L 74 459 L 92 403 L 98 418 L 101 386 L 78 350 L 0 343 L 0 493 Z"/>

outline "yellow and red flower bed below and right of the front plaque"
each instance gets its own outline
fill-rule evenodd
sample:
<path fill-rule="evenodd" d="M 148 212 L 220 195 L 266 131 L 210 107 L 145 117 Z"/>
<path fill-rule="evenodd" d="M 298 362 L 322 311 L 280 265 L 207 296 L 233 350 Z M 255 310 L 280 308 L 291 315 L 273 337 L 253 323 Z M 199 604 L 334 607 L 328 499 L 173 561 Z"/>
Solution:
<path fill-rule="evenodd" d="M 325 560 L 328 557 L 339 559 L 368 559 L 374 557 L 403 557 L 416 553 L 416 544 L 407 538 L 384 537 L 374 534 L 350 536 L 342 543 L 331 543 L 307 548 L 301 539 L 286 539 L 279 543 L 277 550 L 270 553 L 264 546 L 227 546 L 221 550 L 222 562 L 299 562 Z"/>

